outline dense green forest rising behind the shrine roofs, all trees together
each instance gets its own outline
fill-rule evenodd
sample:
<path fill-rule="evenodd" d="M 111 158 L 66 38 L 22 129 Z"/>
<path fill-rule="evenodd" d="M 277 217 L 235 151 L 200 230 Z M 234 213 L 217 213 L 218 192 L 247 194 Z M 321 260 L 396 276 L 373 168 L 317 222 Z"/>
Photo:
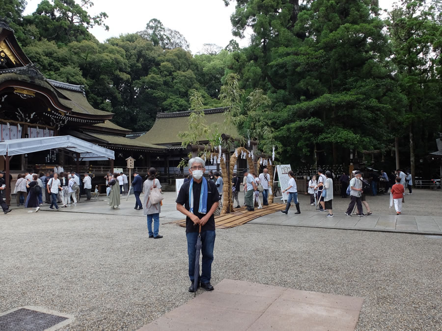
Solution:
<path fill-rule="evenodd" d="M 434 167 L 427 156 L 442 131 L 441 0 L 402 0 L 389 12 L 377 0 L 224 2 L 235 6 L 233 34 L 251 30 L 249 47 L 232 40 L 191 54 L 185 36 L 156 19 L 100 43 L 89 29 L 107 28 L 107 14 L 89 14 L 90 0 L 43 0 L 27 16 L 26 1 L 0 0 L 0 17 L 48 78 L 84 85 L 89 102 L 120 126 L 148 130 L 158 112 L 188 110 L 191 91 L 206 108 L 225 105 L 221 87 L 234 73 L 235 123 L 261 150 L 275 142 L 281 161 L 348 164 L 365 151 L 393 169 L 396 143 L 403 168 Z"/>

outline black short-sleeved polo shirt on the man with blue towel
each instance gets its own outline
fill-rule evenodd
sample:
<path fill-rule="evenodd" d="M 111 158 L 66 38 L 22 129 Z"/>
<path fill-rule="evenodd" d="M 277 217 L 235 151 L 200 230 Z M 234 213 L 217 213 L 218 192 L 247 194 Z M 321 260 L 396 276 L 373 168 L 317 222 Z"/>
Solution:
<path fill-rule="evenodd" d="M 198 216 L 199 219 L 204 217 L 204 214 L 198 213 L 199 209 L 199 197 L 201 195 L 201 185 L 202 181 L 198 184 L 193 181 L 192 191 L 193 191 L 193 214 Z M 190 210 L 189 206 L 189 187 L 190 181 L 186 181 L 180 188 L 178 197 L 176 198 L 177 204 L 182 204 L 187 210 Z M 207 180 L 207 211 L 212 208 L 212 205 L 220 201 L 220 195 L 218 194 L 217 187 L 215 183 L 211 180 Z M 210 216 L 206 224 L 201 227 L 201 231 L 215 230 L 215 217 L 213 214 Z M 186 233 L 188 232 L 198 232 L 199 227 L 194 225 L 193 221 L 186 217 Z"/>

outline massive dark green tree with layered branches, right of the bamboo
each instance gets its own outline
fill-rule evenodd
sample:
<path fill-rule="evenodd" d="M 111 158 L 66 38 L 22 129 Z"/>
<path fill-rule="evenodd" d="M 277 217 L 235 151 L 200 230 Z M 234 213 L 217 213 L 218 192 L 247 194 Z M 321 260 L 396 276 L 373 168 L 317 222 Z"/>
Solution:
<path fill-rule="evenodd" d="M 243 86 L 272 100 L 288 160 L 314 162 L 322 150 L 321 161 L 339 164 L 352 149 L 385 148 L 386 96 L 397 89 L 377 1 L 240 0 L 231 21 L 238 36 L 252 28 L 243 68 L 261 78 Z"/>

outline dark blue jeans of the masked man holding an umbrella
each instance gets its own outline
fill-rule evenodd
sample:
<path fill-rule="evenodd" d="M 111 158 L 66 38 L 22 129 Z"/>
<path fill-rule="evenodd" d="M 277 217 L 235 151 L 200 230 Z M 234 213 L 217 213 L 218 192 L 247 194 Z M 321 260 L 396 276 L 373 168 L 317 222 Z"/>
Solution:
<path fill-rule="evenodd" d="M 187 254 L 189 255 L 189 278 L 193 282 L 195 273 L 195 253 L 196 240 L 198 232 L 186 233 L 187 236 Z M 200 282 L 208 283 L 212 276 L 213 247 L 215 246 L 215 230 L 201 232 L 201 277 Z"/>

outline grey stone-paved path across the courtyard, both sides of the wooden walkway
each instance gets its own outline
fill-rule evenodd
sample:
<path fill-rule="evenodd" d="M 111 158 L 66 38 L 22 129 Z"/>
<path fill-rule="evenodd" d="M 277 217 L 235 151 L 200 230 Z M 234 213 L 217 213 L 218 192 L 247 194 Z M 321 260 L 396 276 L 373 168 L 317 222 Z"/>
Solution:
<path fill-rule="evenodd" d="M 126 196 L 121 196 L 121 205 L 119 209 L 110 208 L 109 204 L 107 204 L 108 199 L 106 197 L 99 197 L 97 200 L 92 200 L 90 202 L 83 201 L 75 207 L 71 206 L 61 208 L 58 212 L 88 213 L 89 218 L 93 218 L 93 214 L 144 217 L 141 210 L 134 209 L 135 197 L 132 195 L 129 196 L 128 200 L 126 200 L 126 198 Z M 143 196 L 141 195 L 140 198 L 142 202 Z M 170 220 L 183 219 L 183 215 L 176 210 L 175 198 L 175 192 L 165 192 L 165 199 L 163 200 L 163 206 L 161 207 L 160 213 L 161 223 L 167 223 Z M 305 197 L 301 198 L 306 199 Z M 240 201 L 242 201 L 242 199 L 240 199 Z M 279 199 L 276 199 L 275 202 L 279 202 Z M 347 203 L 348 201 L 337 202 L 342 204 Z M 56 212 L 49 210 L 49 205 L 46 204 L 41 210 Z M 354 229 L 436 235 L 442 234 L 442 216 L 413 216 L 408 214 L 396 216 L 393 214 L 394 209 L 387 208 L 381 209 L 380 212 L 375 212 L 367 217 L 358 217 L 357 215 L 348 217 L 345 216 L 341 211 L 344 210 L 344 208 L 341 206 L 339 209 L 334 209 L 334 217 L 328 218 L 326 217 L 327 213 L 315 211 L 314 206 L 304 205 L 301 210 L 301 215 L 296 215 L 294 214 L 295 208 L 292 206 L 288 215 L 284 215 L 281 212 L 276 212 L 270 215 L 261 216 L 253 221 L 250 221 L 248 224 Z M 391 214 L 387 214 L 387 212 L 391 212 Z"/>

